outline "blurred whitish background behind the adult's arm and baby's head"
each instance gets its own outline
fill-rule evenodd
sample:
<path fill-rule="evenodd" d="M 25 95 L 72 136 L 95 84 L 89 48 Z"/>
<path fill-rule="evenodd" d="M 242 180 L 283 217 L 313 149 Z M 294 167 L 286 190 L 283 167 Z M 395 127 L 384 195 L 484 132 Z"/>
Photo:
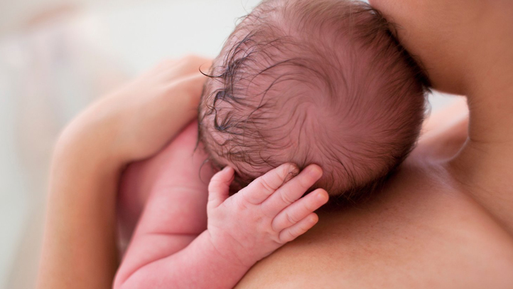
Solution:
<path fill-rule="evenodd" d="M 33 288 L 63 126 L 163 58 L 217 55 L 258 2 L 0 0 L 0 288 Z M 430 101 L 436 110 L 452 99 Z"/>

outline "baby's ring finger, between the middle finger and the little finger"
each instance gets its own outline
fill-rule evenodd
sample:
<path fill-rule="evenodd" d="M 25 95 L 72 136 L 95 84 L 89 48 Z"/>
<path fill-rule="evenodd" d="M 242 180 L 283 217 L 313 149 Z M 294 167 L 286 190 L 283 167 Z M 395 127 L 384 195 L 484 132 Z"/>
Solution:
<path fill-rule="evenodd" d="M 281 211 L 272 221 L 273 230 L 282 231 L 284 228 L 293 226 L 326 202 L 328 202 L 328 192 L 324 189 L 312 191 Z"/>

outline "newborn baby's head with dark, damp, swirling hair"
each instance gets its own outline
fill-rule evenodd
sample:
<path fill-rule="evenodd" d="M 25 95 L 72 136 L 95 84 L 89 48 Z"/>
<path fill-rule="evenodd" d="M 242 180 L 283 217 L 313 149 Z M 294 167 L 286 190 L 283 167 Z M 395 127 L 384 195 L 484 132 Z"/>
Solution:
<path fill-rule="evenodd" d="M 200 102 L 200 140 L 239 186 L 293 162 L 352 197 L 411 151 L 425 78 L 367 4 L 264 1 L 229 36 Z"/>

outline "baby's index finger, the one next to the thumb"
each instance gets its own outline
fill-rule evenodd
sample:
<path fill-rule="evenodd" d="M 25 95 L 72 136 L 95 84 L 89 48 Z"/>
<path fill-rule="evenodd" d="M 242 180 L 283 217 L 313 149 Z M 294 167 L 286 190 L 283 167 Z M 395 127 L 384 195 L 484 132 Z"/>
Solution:
<path fill-rule="evenodd" d="M 279 189 L 280 186 L 295 177 L 298 172 L 299 169 L 296 164 L 282 164 L 266 172 L 266 174 L 258 179 L 255 179 L 251 184 L 242 189 L 240 193 L 242 193 L 244 199 L 249 203 L 261 204 L 262 201 L 265 201 L 267 197 Z"/>

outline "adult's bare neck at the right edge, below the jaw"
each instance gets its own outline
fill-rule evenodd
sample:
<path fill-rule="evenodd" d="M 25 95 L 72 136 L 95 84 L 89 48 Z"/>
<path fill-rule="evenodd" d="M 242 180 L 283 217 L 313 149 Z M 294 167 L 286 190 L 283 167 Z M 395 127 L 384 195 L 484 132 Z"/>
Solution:
<path fill-rule="evenodd" d="M 468 59 L 469 137 L 450 168 L 466 191 L 513 234 L 513 20 L 497 13 Z"/>

